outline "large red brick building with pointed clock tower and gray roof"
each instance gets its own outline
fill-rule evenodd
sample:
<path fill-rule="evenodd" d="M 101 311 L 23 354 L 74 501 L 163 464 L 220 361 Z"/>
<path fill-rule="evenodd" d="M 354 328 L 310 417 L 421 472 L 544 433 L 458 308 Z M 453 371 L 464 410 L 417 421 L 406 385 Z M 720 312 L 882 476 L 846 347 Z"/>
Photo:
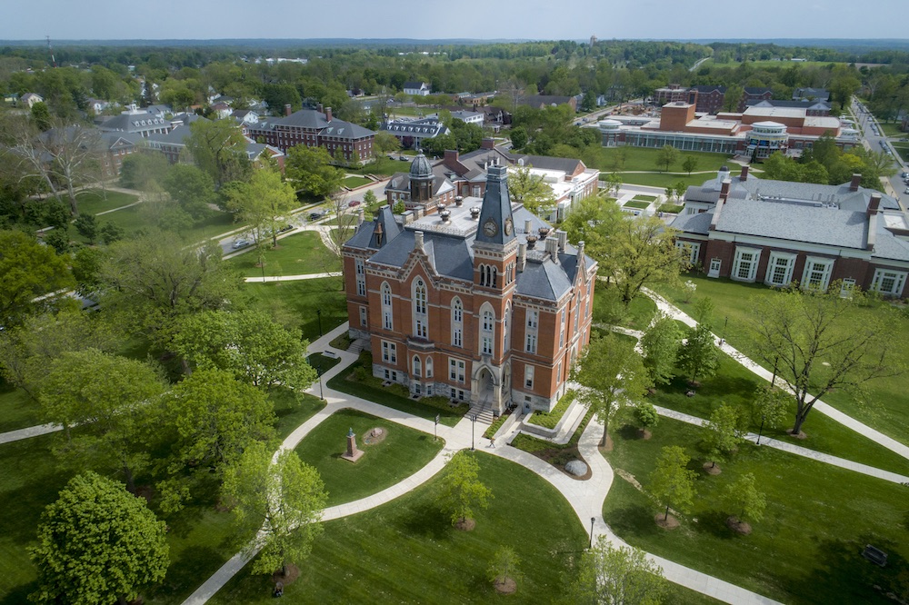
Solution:
<path fill-rule="evenodd" d="M 425 157 L 412 166 L 432 186 Z M 589 342 L 597 265 L 584 243 L 514 203 L 504 164 L 484 194 L 361 210 L 343 248 L 350 335 L 373 353 L 373 375 L 415 397 L 442 395 L 494 414 L 552 410 Z"/>

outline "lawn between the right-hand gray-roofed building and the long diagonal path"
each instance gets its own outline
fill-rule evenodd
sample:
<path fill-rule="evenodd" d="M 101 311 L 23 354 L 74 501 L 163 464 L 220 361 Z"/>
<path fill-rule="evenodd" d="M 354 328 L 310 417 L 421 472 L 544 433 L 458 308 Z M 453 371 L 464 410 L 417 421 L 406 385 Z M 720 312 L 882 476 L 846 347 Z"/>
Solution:
<path fill-rule="evenodd" d="M 757 362 L 754 337 L 751 334 L 750 299 L 759 299 L 773 296 L 774 291 L 759 283 L 738 283 L 727 279 L 709 279 L 703 274 L 692 273 L 685 276 L 697 284 L 697 292 L 692 302 L 684 304 L 682 293 L 664 287 L 658 288 L 661 293 L 674 301 L 676 306 L 685 312 L 691 312 L 698 298 L 707 296 L 714 302 L 714 312 L 708 318 L 713 326 L 714 333 L 724 337 L 731 345 Z M 595 302 L 595 301 L 594 301 Z M 839 326 L 840 330 L 848 331 L 849 325 L 854 322 L 861 323 L 864 317 L 869 317 L 875 312 L 880 312 L 874 307 L 860 307 L 855 309 L 854 317 L 849 322 Z M 728 318 L 728 323 L 726 322 Z M 725 328 L 724 328 L 725 325 Z M 909 315 L 898 313 L 892 323 L 893 338 L 891 340 L 896 359 L 909 359 Z M 763 364 L 767 367 L 767 364 Z M 770 370 L 773 370 L 771 367 Z M 905 376 L 881 378 L 865 385 L 868 395 L 867 403 L 861 404 L 846 392 L 831 392 L 824 395 L 824 402 L 834 405 L 838 410 L 854 416 L 857 420 L 874 427 L 890 437 L 904 443 L 909 443 L 909 405 L 906 404 Z M 805 423 L 811 441 L 812 425 L 817 422 L 820 414 L 812 412 Z"/>

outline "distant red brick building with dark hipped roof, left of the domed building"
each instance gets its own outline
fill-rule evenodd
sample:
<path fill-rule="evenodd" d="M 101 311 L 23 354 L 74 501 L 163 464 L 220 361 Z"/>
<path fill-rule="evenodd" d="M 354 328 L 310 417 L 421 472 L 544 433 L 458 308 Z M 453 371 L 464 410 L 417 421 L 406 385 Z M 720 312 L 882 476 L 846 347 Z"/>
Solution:
<path fill-rule="evenodd" d="M 325 147 L 332 157 L 344 154 L 346 162 L 365 164 L 373 159 L 375 132 L 339 120 L 332 115 L 332 108 L 322 105 L 315 110 L 302 109 L 293 114 L 286 107 L 284 117 L 248 125 L 248 135 L 257 143 L 277 147 L 287 153 L 289 147 Z"/>

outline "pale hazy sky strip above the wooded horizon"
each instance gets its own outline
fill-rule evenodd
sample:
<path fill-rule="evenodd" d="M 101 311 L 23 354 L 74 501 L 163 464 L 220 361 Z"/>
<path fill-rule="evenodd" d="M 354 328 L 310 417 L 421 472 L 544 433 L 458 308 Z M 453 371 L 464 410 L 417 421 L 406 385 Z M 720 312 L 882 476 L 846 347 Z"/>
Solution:
<path fill-rule="evenodd" d="M 906 38 L 906 0 L 10 0 L 0 39 Z"/>

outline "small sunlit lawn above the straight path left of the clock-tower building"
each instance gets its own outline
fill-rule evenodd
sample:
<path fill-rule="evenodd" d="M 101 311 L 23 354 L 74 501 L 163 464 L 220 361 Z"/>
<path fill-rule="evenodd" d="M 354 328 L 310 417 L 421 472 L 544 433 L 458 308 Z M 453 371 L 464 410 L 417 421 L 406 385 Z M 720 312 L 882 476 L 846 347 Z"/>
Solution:
<path fill-rule="evenodd" d="M 304 231 L 278 240 L 276 248 L 265 250 L 265 275 L 303 275 L 341 271 L 341 259 L 332 254 L 318 233 Z M 259 277 L 258 254 L 252 247 L 227 261 L 246 277 Z"/>

